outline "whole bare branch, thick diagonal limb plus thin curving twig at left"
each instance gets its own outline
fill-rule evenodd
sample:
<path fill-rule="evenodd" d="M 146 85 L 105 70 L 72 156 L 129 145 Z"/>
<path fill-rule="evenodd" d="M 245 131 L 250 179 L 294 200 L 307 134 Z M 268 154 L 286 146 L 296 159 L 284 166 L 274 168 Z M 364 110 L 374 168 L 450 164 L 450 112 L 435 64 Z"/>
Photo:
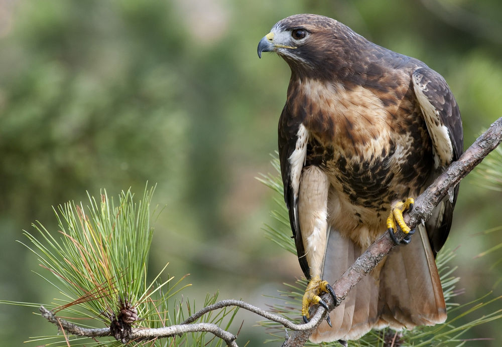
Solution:
<path fill-rule="evenodd" d="M 479 136 L 476 141 L 460 156 L 460 158 L 451 163 L 446 171 L 439 176 L 434 183 L 425 190 L 417 199 L 415 199 L 414 210 L 409 214 L 410 228 L 415 228 L 418 223 L 427 220 L 434 207 L 441 202 L 448 194 L 450 189 L 453 189 L 481 160 L 488 155 L 502 141 L 502 117 L 491 124 L 490 128 Z M 405 234 L 401 230 L 397 230 L 396 237 L 398 241 L 402 241 Z M 371 271 L 395 246 L 388 233 L 385 233 L 378 238 L 369 248 L 348 268 L 343 275 L 333 284 L 333 289 L 336 296 L 336 303 L 330 295 L 324 295 L 323 299 L 328 304 L 329 310 L 345 299 L 349 291 L 369 272 Z M 155 338 L 169 337 L 186 332 L 208 331 L 223 339 L 228 346 L 237 347 L 235 342 L 236 336 L 228 331 L 219 328 L 215 324 L 210 323 L 193 323 L 195 320 L 203 316 L 209 311 L 220 309 L 226 306 L 238 306 L 248 311 L 257 313 L 264 318 L 276 321 L 287 328 L 295 330 L 283 346 L 303 346 L 310 335 L 315 331 L 317 326 L 324 318 L 326 311 L 323 307 L 318 306 L 315 313 L 311 316 L 311 320 L 307 324 L 296 324 L 288 319 L 262 310 L 261 308 L 251 305 L 241 300 L 222 300 L 215 304 L 209 305 L 188 317 L 182 324 L 172 325 L 163 328 L 135 328 L 132 329 L 129 340 L 153 340 Z M 44 306 L 40 306 L 42 316 L 50 322 L 63 328 L 65 331 L 79 336 L 102 337 L 112 336 L 110 328 L 89 329 L 80 327 L 74 323 L 58 318 L 53 312 L 47 310 Z"/>

